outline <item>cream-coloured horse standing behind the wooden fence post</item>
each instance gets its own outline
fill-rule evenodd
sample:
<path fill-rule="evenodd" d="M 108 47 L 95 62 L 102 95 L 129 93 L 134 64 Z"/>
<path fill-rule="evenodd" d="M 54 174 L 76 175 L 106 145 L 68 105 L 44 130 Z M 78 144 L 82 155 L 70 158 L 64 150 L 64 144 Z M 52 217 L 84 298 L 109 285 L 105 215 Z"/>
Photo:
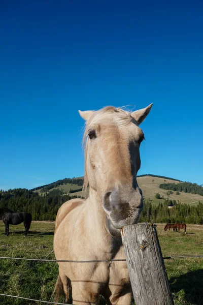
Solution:
<path fill-rule="evenodd" d="M 62 204 L 56 216 L 54 252 L 57 260 L 112 260 L 125 258 L 120 230 L 137 224 L 143 195 L 137 183 L 140 144 L 139 125 L 152 104 L 134 112 L 105 107 L 80 111 L 86 120 L 84 190 L 86 200 Z M 99 294 L 108 305 L 130 305 L 131 286 L 127 264 L 120 262 L 58 262 L 56 301 L 70 287 L 75 305 L 98 305 Z"/>

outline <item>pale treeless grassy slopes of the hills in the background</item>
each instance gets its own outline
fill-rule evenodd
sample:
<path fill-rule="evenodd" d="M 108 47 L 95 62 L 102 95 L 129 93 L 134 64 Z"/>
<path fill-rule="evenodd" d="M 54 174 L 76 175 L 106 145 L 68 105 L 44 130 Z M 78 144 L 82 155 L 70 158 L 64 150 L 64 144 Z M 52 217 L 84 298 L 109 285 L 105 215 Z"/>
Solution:
<path fill-rule="evenodd" d="M 82 177 L 81 177 L 82 178 Z M 200 196 L 198 194 L 191 194 L 191 193 L 184 193 L 180 192 L 180 195 L 176 195 L 176 192 L 173 192 L 170 196 L 167 196 L 167 190 L 163 190 L 159 188 L 160 184 L 168 184 L 168 183 L 180 183 L 180 181 L 172 179 L 172 178 L 161 178 L 155 175 L 145 175 L 145 176 L 140 176 L 137 178 L 138 180 L 138 185 L 143 191 L 143 195 L 145 199 L 150 199 L 153 204 L 158 204 L 159 202 L 164 202 L 163 199 L 156 199 L 155 195 L 156 193 L 159 193 L 161 196 L 164 196 L 165 199 L 170 199 L 170 200 L 176 200 L 176 201 L 181 201 L 181 203 L 186 203 L 190 205 L 196 205 L 198 201 L 203 203 L 203 196 Z M 49 190 L 62 190 L 64 193 L 67 192 L 69 194 L 70 190 L 79 190 L 81 189 L 81 186 L 75 185 L 75 184 L 63 184 L 60 185 L 56 188 L 52 188 Z M 37 190 L 40 192 L 42 189 Z M 37 192 L 36 191 L 36 192 Z M 76 193 L 70 193 L 70 196 L 77 195 L 77 196 L 82 196 L 82 191 L 76 192 Z"/>

